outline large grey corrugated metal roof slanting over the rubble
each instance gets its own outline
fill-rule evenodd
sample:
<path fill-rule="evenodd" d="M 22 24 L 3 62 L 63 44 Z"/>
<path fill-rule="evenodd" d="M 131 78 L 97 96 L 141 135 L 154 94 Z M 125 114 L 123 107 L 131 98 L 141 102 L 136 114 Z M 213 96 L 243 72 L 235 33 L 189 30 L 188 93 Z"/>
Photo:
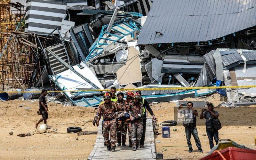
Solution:
<path fill-rule="evenodd" d="M 255 0 L 157 0 L 138 44 L 208 41 L 255 26 L 255 15 Z"/>

